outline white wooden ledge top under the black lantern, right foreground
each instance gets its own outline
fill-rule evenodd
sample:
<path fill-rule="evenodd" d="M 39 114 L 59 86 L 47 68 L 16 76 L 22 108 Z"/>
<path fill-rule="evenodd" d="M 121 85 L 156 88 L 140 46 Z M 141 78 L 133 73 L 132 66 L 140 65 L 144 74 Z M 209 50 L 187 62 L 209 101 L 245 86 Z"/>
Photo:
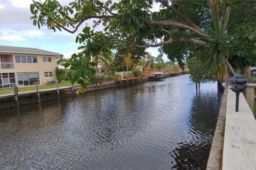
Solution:
<path fill-rule="evenodd" d="M 222 169 L 256 169 L 256 121 L 244 95 L 228 89 Z"/>

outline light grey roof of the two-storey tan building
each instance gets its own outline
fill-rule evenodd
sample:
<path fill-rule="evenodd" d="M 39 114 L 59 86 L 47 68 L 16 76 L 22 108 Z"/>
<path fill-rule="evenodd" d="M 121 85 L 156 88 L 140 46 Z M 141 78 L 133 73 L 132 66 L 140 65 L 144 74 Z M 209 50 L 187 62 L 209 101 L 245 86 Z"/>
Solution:
<path fill-rule="evenodd" d="M 59 53 L 49 52 L 49 51 L 38 49 L 38 48 L 12 47 L 12 46 L 1 46 L 1 45 L 0 45 L 0 53 L 60 55 Z"/>

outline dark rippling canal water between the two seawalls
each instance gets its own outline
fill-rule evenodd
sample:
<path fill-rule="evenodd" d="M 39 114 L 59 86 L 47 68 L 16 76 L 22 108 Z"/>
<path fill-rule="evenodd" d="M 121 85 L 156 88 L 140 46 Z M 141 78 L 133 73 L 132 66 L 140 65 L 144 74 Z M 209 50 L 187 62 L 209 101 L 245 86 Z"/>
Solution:
<path fill-rule="evenodd" d="M 0 113 L 0 169 L 205 169 L 221 95 L 189 75 Z"/>

